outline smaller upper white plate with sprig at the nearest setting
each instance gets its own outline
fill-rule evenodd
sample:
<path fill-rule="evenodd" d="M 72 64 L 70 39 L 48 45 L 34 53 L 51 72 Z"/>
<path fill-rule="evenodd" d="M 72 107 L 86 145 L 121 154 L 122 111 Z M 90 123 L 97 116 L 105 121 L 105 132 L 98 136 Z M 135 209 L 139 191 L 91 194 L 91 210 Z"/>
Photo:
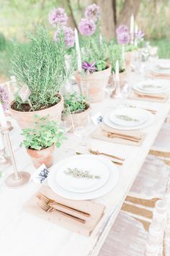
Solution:
<path fill-rule="evenodd" d="M 74 171 L 76 171 L 76 174 L 78 174 L 78 171 L 83 171 L 84 174 L 87 171 L 88 176 L 91 175 L 91 179 L 70 175 Z M 61 187 L 68 191 L 78 193 L 91 192 L 99 189 L 107 182 L 109 169 L 103 161 L 97 158 L 88 158 L 88 161 L 82 157 L 77 158 L 76 161 L 71 158 L 57 168 L 55 179 Z"/>

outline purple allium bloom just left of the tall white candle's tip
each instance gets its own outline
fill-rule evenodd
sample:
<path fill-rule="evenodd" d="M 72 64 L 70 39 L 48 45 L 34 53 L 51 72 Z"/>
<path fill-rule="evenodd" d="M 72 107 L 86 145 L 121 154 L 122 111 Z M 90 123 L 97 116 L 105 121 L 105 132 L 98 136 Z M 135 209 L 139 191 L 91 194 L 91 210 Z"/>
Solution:
<path fill-rule="evenodd" d="M 54 34 L 55 42 L 58 42 L 58 35 L 61 33 L 61 30 L 57 30 Z M 74 45 L 74 33 L 71 27 L 63 27 L 63 34 L 64 34 L 64 43 L 68 48 L 73 47 Z"/>

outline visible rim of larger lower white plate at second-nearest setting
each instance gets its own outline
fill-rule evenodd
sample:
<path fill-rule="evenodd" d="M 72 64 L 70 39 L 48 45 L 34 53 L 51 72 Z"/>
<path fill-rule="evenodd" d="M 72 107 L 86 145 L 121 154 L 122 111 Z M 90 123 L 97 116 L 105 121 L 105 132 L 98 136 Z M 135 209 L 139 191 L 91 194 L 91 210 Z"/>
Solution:
<path fill-rule="evenodd" d="M 146 110 L 143 109 L 143 111 L 146 111 Z M 144 121 L 142 124 L 128 127 L 128 126 L 122 126 L 119 124 L 112 123 L 112 121 L 110 121 L 110 119 L 109 119 L 109 114 L 110 114 L 110 112 L 104 115 L 104 124 L 106 124 L 108 127 L 111 127 L 114 129 L 121 129 L 121 130 L 133 130 L 133 129 L 145 128 L 145 127 L 148 127 L 150 124 L 152 124 L 153 121 L 155 120 L 155 117 L 153 116 L 153 114 L 151 114 L 151 112 L 149 112 L 149 111 L 146 111 L 146 114 L 148 115 L 148 118 L 146 121 Z"/>

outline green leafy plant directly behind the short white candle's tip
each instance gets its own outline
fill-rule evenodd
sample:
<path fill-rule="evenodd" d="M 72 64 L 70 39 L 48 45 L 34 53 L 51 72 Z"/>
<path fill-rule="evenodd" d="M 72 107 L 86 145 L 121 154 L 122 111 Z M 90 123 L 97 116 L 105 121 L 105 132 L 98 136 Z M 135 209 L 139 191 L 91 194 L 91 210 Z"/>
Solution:
<path fill-rule="evenodd" d="M 123 72 L 124 69 L 124 61 L 122 59 L 122 46 L 116 44 L 114 40 L 111 40 L 108 43 L 109 48 L 109 62 L 112 65 L 112 71 L 115 72 L 115 63 L 119 61 L 120 72 Z"/>

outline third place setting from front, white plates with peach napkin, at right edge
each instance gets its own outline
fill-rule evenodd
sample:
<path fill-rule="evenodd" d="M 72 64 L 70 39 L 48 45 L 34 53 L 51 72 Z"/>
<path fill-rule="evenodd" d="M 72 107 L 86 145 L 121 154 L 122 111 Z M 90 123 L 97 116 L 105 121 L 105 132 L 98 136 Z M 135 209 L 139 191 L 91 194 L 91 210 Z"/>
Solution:
<path fill-rule="evenodd" d="M 165 80 L 143 80 L 133 85 L 130 99 L 166 102 L 169 98 L 169 82 Z"/>

